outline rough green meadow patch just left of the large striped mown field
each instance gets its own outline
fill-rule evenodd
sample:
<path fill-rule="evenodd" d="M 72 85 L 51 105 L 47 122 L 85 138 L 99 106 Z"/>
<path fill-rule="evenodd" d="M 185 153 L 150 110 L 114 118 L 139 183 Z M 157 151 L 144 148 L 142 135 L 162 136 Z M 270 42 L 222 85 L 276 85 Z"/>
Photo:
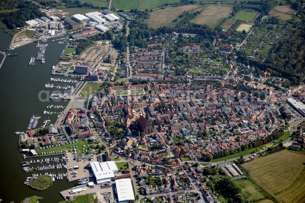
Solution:
<path fill-rule="evenodd" d="M 264 199 L 264 194 L 260 192 L 260 188 L 247 179 L 234 180 L 241 189 L 241 194 L 246 201 L 253 202 Z"/>

